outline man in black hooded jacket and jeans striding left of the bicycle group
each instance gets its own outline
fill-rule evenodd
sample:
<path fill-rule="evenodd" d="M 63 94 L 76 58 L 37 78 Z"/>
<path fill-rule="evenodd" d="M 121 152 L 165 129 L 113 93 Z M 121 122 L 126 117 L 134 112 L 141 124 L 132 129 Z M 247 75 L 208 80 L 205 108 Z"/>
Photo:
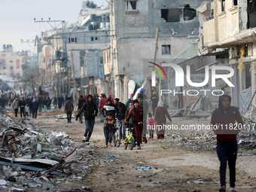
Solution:
<path fill-rule="evenodd" d="M 92 95 L 87 96 L 87 102 L 85 102 L 84 105 L 81 107 L 77 116 L 75 117 L 75 120 L 78 120 L 78 117 L 80 116 L 82 111 L 84 111 L 84 121 L 85 121 L 85 133 L 84 133 L 83 142 L 87 142 L 87 145 L 90 145 L 89 143 L 90 136 L 92 136 L 95 117 L 98 114 L 98 108 L 96 104 L 93 102 Z"/>

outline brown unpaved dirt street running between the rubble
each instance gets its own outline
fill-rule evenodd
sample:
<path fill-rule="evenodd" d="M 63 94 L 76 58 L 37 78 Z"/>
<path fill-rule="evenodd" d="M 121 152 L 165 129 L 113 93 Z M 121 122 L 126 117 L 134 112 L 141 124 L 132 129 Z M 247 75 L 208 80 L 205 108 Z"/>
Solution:
<path fill-rule="evenodd" d="M 66 123 L 65 119 L 56 120 L 54 115 L 62 111 L 52 111 L 38 115 L 38 120 L 32 120 L 35 127 L 44 131 L 66 132 L 73 139 L 81 140 L 84 135 L 84 123 L 72 119 Z M 185 120 L 181 117 L 173 118 L 173 123 L 193 123 L 195 120 Z M 204 123 L 207 123 L 206 120 Z M 209 123 L 209 122 L 208 122 Z M 182 136 L 183 133 L 166 131 L 166 139 L 150 140 L 142 145 L 142 150 L 120 148 L 104 148 L 103 123 L 96 118 L 90 144 L 96 145 L 92 159 L 107 160 L 108 163 L 97 164 L 79 181 L 67 179 L 62 183 L 59 191 L 82 190 L 82 187 L 93 191 L 218 191 L 218 157 L 214 142 L 206 142 L 207 146 L 194 148 L 186 145 L 186 139 L 181 145 L 173 142 L 172 135 Z M 191 133 L 197 134 L 197 133 Z M 181 139 L 182 141 L 182 139 Z M 200 139 L 194 139 L 199 144 Z M 123 140 L 121 141 L 123 142 Z M 209 145 L 209 146 L 208 146 Z M 238 191 L 256 191 L 256 156 L 254 150 L 239 150 L 236 163 L 236 189 Z M 82 161 L 81 166 L 86 165 Z M 139 169 L 149 167 L 149 169 Z M 227 172 L 228 175 L 228 172 Z M 228 180 L 227 176 L 227 180 Z"/>

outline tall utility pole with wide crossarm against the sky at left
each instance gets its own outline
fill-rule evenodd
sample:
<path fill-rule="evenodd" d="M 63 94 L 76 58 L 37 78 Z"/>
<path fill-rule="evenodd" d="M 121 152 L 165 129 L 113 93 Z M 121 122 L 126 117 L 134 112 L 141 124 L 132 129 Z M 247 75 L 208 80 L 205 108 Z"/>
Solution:
<path fill-rule="evenodd" d="M 56 32 L 56 34 L 53 35 L 53 37 L 47 38 L 47 39 L 62 39 L 62 59 L 61 59 L 61 63 L 62 63 L 62 67 L 67 68 L 67 62 L 68 62 L 68 54 L 67 54 L 67 44 L 66 44 L 66 21 L 65 20 L 43 20 L 43 18 L 41 18 L 41 20 L 35 20 L 35 23 L 40 22 L 40 23 L 48 23 L 53 31 Z M 54 23 L 54 26 L 51 24 Z M 58 31 L 58 27 L 62 25 L 62 32 L 59 33 Z M 54 37 L 56 36 L 56 37 Z M 60 36 L 60 37 L 58 37 Z M 68 78 L 69 78 L 69 70 L 66 70 L 68 72 Z M 59 96 L 61 95 L 61 74 L 60 74 L 60 63 L 59 63 Z M 69 81 L 69 80 L 68 80 Z M 63 92 L 64 92 L 64 87 L 63 88 Z M 68 93 L 68 91 L 66 91 L 66 93 Z"/>

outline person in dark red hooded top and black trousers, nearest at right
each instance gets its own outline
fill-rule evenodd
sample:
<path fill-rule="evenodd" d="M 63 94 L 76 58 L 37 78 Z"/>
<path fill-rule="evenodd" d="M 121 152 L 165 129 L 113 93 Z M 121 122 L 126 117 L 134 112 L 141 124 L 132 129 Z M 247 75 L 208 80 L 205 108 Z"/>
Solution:
<path fill-rule="evenodd" d="M 230 191 L 235 190 L 236 182 L 236 135 L 242 129 L 242 117 L 236 107 L 230 106 L 231 97 L 224 94 L 219 97 L 218 108 L 212 112 L 212 130 L 217 134 L 217 154 L 220 160 L 220 192 L 226 191 L 227 162 L 230 169 Z M 237 122 L 237 124 L 236 124 Z"/>

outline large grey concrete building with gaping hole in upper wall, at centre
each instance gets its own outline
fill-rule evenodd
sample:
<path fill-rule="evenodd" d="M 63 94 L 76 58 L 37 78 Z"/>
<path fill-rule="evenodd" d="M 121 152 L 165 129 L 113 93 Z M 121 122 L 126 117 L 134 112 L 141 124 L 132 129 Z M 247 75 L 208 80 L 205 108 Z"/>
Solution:
<path fill-rule="evenodd" d="M 188 59 L 197 55 L 199 20 L 203 1 L 109 1 L 111 45 L 105 50 L 114 96 L 125 101 L 145 81 L 145 61 Z M 160 29 L 155 51 L 156 31 Z M 154 54 L 156 55 L 154 58 Z M 148 65 L 147 65 L 148 66 Z M 149 94 L 150 95 L 150 94 Z"/>

